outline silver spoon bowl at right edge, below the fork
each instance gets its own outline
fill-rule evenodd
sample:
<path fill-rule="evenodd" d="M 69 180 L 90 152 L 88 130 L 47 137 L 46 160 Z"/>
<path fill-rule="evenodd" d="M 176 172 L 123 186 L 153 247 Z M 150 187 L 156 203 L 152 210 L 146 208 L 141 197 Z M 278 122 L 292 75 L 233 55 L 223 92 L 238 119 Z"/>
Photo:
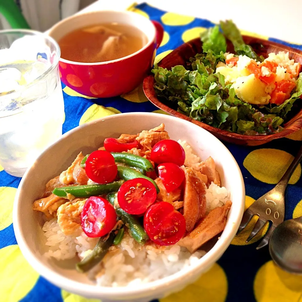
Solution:
<path fill-rule="evenodd" d="M 298 160 L 297 160 L 298 158 Z M 302 159 L 302 147 L 294 161 Z M 269 242 L 271 258 L 283 270 L 302 273 L 302 216 L 279 224 Z"/>

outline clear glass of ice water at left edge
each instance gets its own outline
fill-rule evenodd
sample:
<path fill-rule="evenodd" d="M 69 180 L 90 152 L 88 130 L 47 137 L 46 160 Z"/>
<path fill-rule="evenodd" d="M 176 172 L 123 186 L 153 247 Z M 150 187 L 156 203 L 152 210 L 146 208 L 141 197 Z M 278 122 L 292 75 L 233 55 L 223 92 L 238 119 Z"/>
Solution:
<path fill-rule="evenodd" d="M 0 165 L 11 175 L 23 176 L 62 135 L 59 58 L 58 43 L 47 35 L 0 31 Z"/>

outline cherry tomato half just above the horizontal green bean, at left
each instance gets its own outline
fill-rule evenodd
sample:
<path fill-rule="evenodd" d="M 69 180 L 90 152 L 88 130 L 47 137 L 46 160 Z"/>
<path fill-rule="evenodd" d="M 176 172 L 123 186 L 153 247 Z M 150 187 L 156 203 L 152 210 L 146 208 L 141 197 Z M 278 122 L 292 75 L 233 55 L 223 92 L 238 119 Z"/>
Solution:
<path fill-rule="evenodd" d="M 108 151 L 97 150 L 88 156 L 85 171 L 93 182 L 113 182 L 117 175 L 117 165 Z"/>

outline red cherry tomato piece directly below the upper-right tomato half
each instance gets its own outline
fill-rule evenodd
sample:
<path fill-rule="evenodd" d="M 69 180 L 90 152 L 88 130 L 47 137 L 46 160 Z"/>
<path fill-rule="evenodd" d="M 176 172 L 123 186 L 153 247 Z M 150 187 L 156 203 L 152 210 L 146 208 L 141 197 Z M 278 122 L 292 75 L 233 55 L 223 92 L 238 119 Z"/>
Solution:
<path fill-rule="evenodd" d="M 180 187 L 185 178 L 182 168 L 173 163 L 162 163 L 157 169 L 159 178 L 163 181 L 168 193 Z"/>

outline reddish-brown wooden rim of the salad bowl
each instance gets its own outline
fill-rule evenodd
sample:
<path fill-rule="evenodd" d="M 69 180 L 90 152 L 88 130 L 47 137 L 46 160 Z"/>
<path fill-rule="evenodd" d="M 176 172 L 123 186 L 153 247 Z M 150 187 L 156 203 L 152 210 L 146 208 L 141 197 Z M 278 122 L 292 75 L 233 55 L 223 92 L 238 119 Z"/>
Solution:
<path fill-rule="evenodd" d="M 302 51 L 299 50 L 299 49 L 296 49 L 296 48 L 292 48 L 288 45 L 283 45 L 281 43 L 277 43 L 277 42 L 273 42 L 273 41 L 269 41 L 269 40 L 265 40 L 265 39 L 261 39 L 261 38 L 257 38 L 257 37 L 253 37 L 253 36 L 246 36 L 246 35 L 243 35 L 243 40 L 254 40 L 255 42 L 258 42 L 260 44 L 269 44 L 271 46 L 276 46 L 278 48 L 282 48 L 282 51 L 290 51 L 292 53 L 297 53 L 299 56 L 301 56 L 302 58 Z M 165 56 L 163 59 L 168 59 L 175 51 L 177 51 L 179 48 L 183 47 L 184 44 L 188 44 L 188 45 L 192 45 L 194 42 L 197 42 L 197 41 L 200 41 L 199 38 L 195 38 L 193 40 L 190 40 L 186 43 L 183 43 L 182 45 L 180 45 L 179 47 L 175 48 L 171 53 L 169 53 L 167 56 Z M 160 64 L 160 62 L 163 60 L 161 59 L 159 61 L 159 66 L 161 66 L 162 64 Z M 161 66 L 162 67 L 162 66 Z M 299 115 L 299 113 L 302 112 L 302 109 L 296 114 L 294 115 L 294 117 L 289 120 L 288 122 L 286 122 L 284 124 L 284 128 L 282 131 L 280 132 L 277 132 L 277 133 L 273 133 L 273 134 L 266 134 L 266 135 L 245 135 L 245 134 L 239 134 L 239 133 L 235 133 L 235 132 L 229 132 L 229 131 L 226 131 L 226 130 L 222 130 L 222 129 L 219 129 L 219 128 L 215 128 L 213 126 L 210 126 L 204 122 L 201 122 L 201 121 L 198 121 L 198 120 L 194 120 L 192 119 L 191 117 L 187 116 L 187 115 L 184 115 L 178 111 L 176 111 L 175 109 L 172 109 L 171 107 L 165 105 L 164 103 L 162 103 L 158 98 L 157 98 L 157 95 L 155 93 L 155 90 L 154 88 L 152 89 L 151 93 L 148 91 L 148 86 L 150 84 L 152 84 L 152 87 L 154 85 L 154 76 L 153 75 L 148 75 L 144 78 L 144 81 L 143 81 L 143 91 L 146 95 L 146 97 L 148 98 L 148 100 L 153 103 L 156 107 L 162 109 L 163 111 L 173 115 L 173 116 L 176 116 L 178 118 L 181 118 L 181 119 L 184 119 L 184 120 L 187 120 L 189 122 L 192 122 L 198 126 L 201 126 L 202 128 L 206 129 L 207 131 L 212 131 L 212 132 L 215 132 L 219 135 L 222 135 L 222 136 L 227 136 L 227 137 L 232 137 L 232 138 L 236 138 L 236 139 L 239 139 L 239 140 L 273 140 L 275 138 L 282 138 L 282 137 L 286 137 L 290 134 L 293 134 L 294 132 L 298 131 L 301 129 L 301 127 L 297 130 L 294 130 L 294 129 L 287 129 L 286 127 L 294 124 L 295 122 L 299 121 L 299 120 L 302 120 L 302 115 L 298 118 L 298 119 L 295 119 L 295 117 L 297 115 Z"/>

